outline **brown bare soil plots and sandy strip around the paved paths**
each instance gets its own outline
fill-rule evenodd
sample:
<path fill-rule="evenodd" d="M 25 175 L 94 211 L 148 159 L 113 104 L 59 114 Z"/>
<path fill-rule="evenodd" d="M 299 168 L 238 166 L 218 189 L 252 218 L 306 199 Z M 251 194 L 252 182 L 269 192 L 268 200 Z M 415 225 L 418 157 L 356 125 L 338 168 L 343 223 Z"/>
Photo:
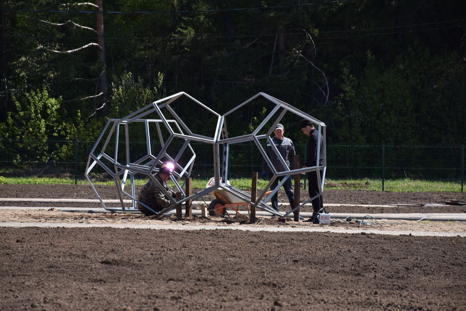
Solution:
<path fill-rule="evenodd" d="M 104 199 L 116 199 L 101 186 Z M 0 185 L 1 197 L 96 199 L 89 186 Z M 445 203 L 461 193 L 325 192 L 343 204 Z M 212 198 L 204 197 L 204 200 Z M 279 201 L 286 201 L 281 194 Z M 18 206 L 18 202 L 0 202 Z M 32 203 L 26 203 L 25 206 Z M 57 206 L 76 207 L 77 203 Z M 236 219 L 2 210 L 0 222 L 218 225 L 221 230 L 0 227 L 0 310 L 465 310 L 466 238 L 250 232 Z M 80 203 L 79 207 L 102 207 Z M 365 207 L 364 207 L 365 208 Z M 465 207 L 371 213 L 462 213 Z M 283 207 L 286 210 L 287 207 Z M 370 213 L 363 207 L 330 212 Z M 465 232 L 466 224 L 380 221 L 380 230 Z M 263 218 L 259 227 L 323 227 Z M 346 225 L 345 225 L 346 226 Z"/>

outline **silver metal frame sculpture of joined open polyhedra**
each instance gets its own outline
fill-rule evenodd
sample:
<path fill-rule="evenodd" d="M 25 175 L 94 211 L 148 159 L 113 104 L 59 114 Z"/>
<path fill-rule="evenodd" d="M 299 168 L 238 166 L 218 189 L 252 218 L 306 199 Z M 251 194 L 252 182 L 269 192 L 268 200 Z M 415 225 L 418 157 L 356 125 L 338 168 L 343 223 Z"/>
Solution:
<path fill-rule="evenodd" d="M 212 114 L 212 118 L 207 118 L 206 120 L 212 120 L 212 122 L 216 122 L 215 126 L 215 132 L 212 133 L 212 137 L 209 136 L 204 136 L 200 134 L 193 133 L 189 127 L 183 122 L 183 120 L 178 116 L 178 114 L 171 108 L 170 104 L 173 103 L 176 99 L 179 97 L 186 97 L 190 100 L 192 100 L 195 104 L 198 104 L 202 109 L 205 109 L 209 113 Z M 228 137 L 228 133 L 226 130 L 226 116 L 232 114 L 234 111 L 238 110 L 240 107 L 243 105 L 251 102 L 253 99 L 257 97 L 264 97 L 273 104 L 275 104 L 274 109 L 267 115 L 267 117 L 264 118 L 264 120 L 260 123 L 260 125 L 251 133 L 247 135 L 242 135 L 239 137 Z M 164 117 L 164 113 L 162 112 L 162 109 L 165 109 L 168 115 L 171 115 L 173 117 L 172 119 L 167 119 Z M 282 110 L 282 111 L 280 111 Z M 276 124 L 278 124 L 281 120 L 281 118 L 285 115 L 286 112 L 291 112 L 297 116 L 300 117 L 300 119 L 307 119 L 309 121 L 314 122 L 315 124 L 318 124 L 317 130 L 318 130 L 318 144 L 317 144 L 317 154 L 319 154 L 319 148 L 320 148 L 320 141 L 323 140 L 323 155 L 324 155 L 324 165 L 319 166 L 319 159 L 317 157 L 317 162 L 315 166 L 310 166 L 306 168 L 300 168 L 300 169 L 291 169 L 288 167 L 286 162 L 283 160 L 283 158 L 280 155 L 280 152 L 278 152 L 277 148 L 275 145 L 272 143 L 272 139 L 270 138 L 270 135 L 272 134 Z M 279 113 L 278 117 L 276 117 L 274 123 L 272 126 L 267 130 L 266 134 L 259 135 L 259 132 L 263 130 L 269 120 L 274 117 L 275 113 Z M 147 117 L 151 114 L 156 114 L 157 118 L 144 118 Z M 147 152 L 146 154 L 139 158 L 136 159 L 135 161 L 131 161 L 130 159 L 130 147 L 129 147 L 129 126 L 132 123 L 143 123 L 144 124 L 144 130 L 145 130 L 145 140 L 146 140 L 146 149 Z M 101 140 L 103 138 L 104 133 L 107 131 L 109 128 L 110 124 L 112 124 L 110 128 L 110 132 L 103 143 L 103 147 L 100 150 L 99 153 L 95 153 L 97 146 L 101 143 Z M 151 150 L 151 132 L 150 132 L 150 124 L 156 124 L 157 128 L 157 137 L 160 140 L 160 144 L 162 146 L 161 150 L 158 152 L 157 155 L 152 154 Z M 168 138 L 164 139 L 162 135 L 162 128 L 161 125 L 164 126 L 164 128 L 168 131 L 169 136 Z M 125 137 L 125 148 L 124 151 L 126 152 L 126 156 L 121 161 L 119 157 L 119 145 L 118 145 L 118 139 L 120 137 L 120 127 L 124 127 L 124 137 Z M 110 154 L 107 154 L 105 151 L 109 147 L 108 144 L 110 142 L 110 139 L 114 137 L 115 138 L 115 148 L 114 148 L 114 154 L 113 157 Z M 181 149 L 176 153 L 176 154 L 169 154 L 167 152 L 169 145 L 171 144 L 173 138 L 181 138 L 184 140 L 184 144 L 181 147 Z M 286 168 L 284 171 L 277 171 L 274 166 L 272 165 L 270 159 L 267 157 L 267 154 L 260 144 L 260 139 L 267 140 L 270 145 L 272 146 L 277 158 L 280 160 L 282 166 Z M 187 178 L 190 177 L 191 171 L 192 171 L 192 166 L 194 164 L 194 160 L 196 158 L 196 154 L 194 153 L 190 142 L 191 141 L 197 141 L 197 142 L 202 142 L 206 144 L 212 145 L 212 152 L 213 152 L 213 169 L 214 169 L 214 177 L 215 177 L 215 184 L 212 185 L 211 187 L 207 187 L 206 189 L 202 189 L 199 191 L 199 193 L 192 194 L 191 196 L 187 197 L 185 193 L 183 192 L 183 186 L 179 186 L 178 182 L 181 178 Z M 259 194 L 256 200 L 252 201 L 250 194 L 247 194 L 240 189 L 237 189 L 229 184 L 227 184 L 227 177 L 228 177 L 228 162 L 229 162 L 229 154 L 230 154 L 230 146 L 233 144 L 237 143 L 242 143 L 246 141 L 254 141 L 254 144 L 257 146 L 259 149 L 260 153 L 266 160 L 268 166 L 272 170 L 273 177 L 270 179 L 269 183 L 267 184 L 267 187 Z M 223 152 L 222 152 L 222 170 L 220 173 L 220 162 L 219 162 L 219 150 L 220 150 L 220 145 L 222 145 Z M 178 160 L 181 158 L 182 154 L 186 152 L 186 150 L 189 150 L 192 152 L 192 157 L 190 160 L 186 163 L 185 166 L 181 166 L 178 164 Z M 111 150 L 111 148 L 110 148 Z M 286 213 L 285 215 L 281 214 L 280 212 L 277 212 L 273 208 L 267 205 L 267 202 L 272 198 L 272 196 L 278 191 L 278 189 L 281 187 L 281 185 L 285 182 L 286 179 L 290 178 L 291 175 L 293 174 L 299 174 L 299 173 L 307 173 L 307 172 L 312 172 L 312 171 L 317 171 L 317 170 L 323 170 L 323 175 L 322 175 L 322 180 L 319 180 L 319 184 L 321 185 L 319 189 L 319 195 L 322 195 L 322 186 L 323 186 L 323 181 L 325 179 L 325 171 L 326 171 L 326 148 L 325 148 L 325 124 L 322 123 L 321 121 L 309 116 L 308 114 L 296 109 L 295 107 L 279 100 L 274 97 L 271 97 L 265 93 L 259 93 L 255 95 L 254 97 L 251 97 L 244 103 L 240 104 L 233 110 L 227 112 L 225 115 L 220 116 L 218 113 L 215 111 L 212 111 L 210 108 L 205 106 L 204 104 L 200 103 L 193 97 L 189 96 L 185 92 L 180 92 L 177 94 L 174 94 L 170 97 L 165 97 L 163 99 L 160 99 L 156 102 L 153 102 L 150 105 L 145 106 L 144 108 L 126 116 L 121 119 L 110 119 L 109 122 L 105 125 L 101 135 L 97 139 L 96 144 L 92 148 L 91 152 L 89 153 L 89 159 L 88 159 L 88 164 L 86 166 L 86 179 L 89 181 L 91 184 L 92 188 L 94 189 L 95 193 L 97 194 L 97 197 L 99 198 L 100 202 L 103 204 L 103 207 L 105 209 L 109 210 L 119 210 L 119 211 L 134 211 L 137 210 L 136 207 L 136 202 L 139 202 L 140 204 L 143 204 L 142 202 L 137 200 L 137 194 L 135 193 L 134 189 L 134 175 L 137 173 L 147 175 L 148 178 L 152 179 L 156 184 L 161 186 L 153 176 L 153 173 L 158 172 L 157 166 L 163 163 L 163 159 L 169 160 L 175 164 L 175 171 L 173 175 L 171 175 L 171 180 L 174 183 L 174 187 L 176 188 L 177 191 L 182 193 L 182 199 L 180 201 L 176 201 L 175 199 L 171 198 L 170 195 L 167 195 L 168 198 L 170 198 L 172 204 L 169 207 L 164 208 L 161 212 L 157 213 L 153 211 L 150 207 L 150 210 L 152 210 L 156 214 L 164 214 L 166 212 L 171 211 L 176 207 L 177 204 L 179 203 L 184 203 L 188 200 L 193 200 L 196 198 L 200 198 L 204 194 L 208 194 L 214 190 L 217 189 L 224 189 L 228 193 L 240 198 L 241 200 L 254 205 L 255 207 L 267 211 L 271 214 L 274 214 L 276 216 L 287 216 L 291 212 L 293 212 L 295 209 L 302 207 L 304 204 L 308 203 L 309 201 L 315 199 L 315 198 L 310 198 L 306 202 L 302 203 L 300 206 L 294 208 L 290 212 Z M 105 161 L 110 162 L 109 164 L 105 165 Z M 103 169 L 109 173 L 116 185 L 116 190 L 118 192 L 118 197 L 121 203 L 121 208 L 120 207 L 106 207 L 103 200 L 101 199 L 100 195 L 98 194 L 96 188 L 92 184 L 91 180 L 89 179 L 89 173 L 92 171 L 92 169 L 96 166 L 99 165 L 103 167 Z M 113 168 L 110 168 L 109 166 L 113 166 Z M 220 178 L 220 175 L 222 178 Z M 127 191 L 124 190 L 126 181 L 130 180 L 130 187 L 131 191 L 128 193 Z M 285 176 L 285 178 L 278 184 L 277 187 L 273 190 L 271 194 L 269 194 L 266 198 L 265 194 L 267 192 L 267 189 L 270 187 L 270 185 L 274 182 L 274 180 L 280 176 Z M 317 174 L 318 178 L 320 178 L 320 174 Z M 160 187 L 162 191 L 165 193 L 165 190 L 163 187 Z M 131 207 L 125 207 L 123 203 L 123 194 L 128 196 L 132 200 L 132 206 Z M 165 193 L 166 194 L 166 193 Z"/>

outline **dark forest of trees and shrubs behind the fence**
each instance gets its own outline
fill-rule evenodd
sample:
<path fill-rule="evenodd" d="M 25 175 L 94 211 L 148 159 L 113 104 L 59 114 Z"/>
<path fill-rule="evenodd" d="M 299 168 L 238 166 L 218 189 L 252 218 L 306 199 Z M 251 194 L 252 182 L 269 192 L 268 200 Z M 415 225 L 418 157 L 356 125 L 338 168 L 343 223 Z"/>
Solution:
<path fill-rule="evenodd" d="M 0 137 L 95 141 L 180 91 L 220 115 L 264 92 L 326 123 L 328 143 L 466 143 L 465 1 L 223 2 L 3 1 Z"/>

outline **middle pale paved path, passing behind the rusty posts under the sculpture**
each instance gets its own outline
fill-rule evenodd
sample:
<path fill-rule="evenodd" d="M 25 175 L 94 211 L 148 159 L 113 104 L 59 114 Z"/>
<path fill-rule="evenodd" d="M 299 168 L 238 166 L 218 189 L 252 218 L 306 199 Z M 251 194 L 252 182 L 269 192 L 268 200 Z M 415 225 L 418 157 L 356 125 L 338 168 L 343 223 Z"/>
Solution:
<path fill-rule="evenodd" d="M 50 207 L 18 207 L 18 206 L 2 206 L 0 207 L 0 211 L 3 209 L 18 209 L 18 210 L 25 210 L 25 209 L 49 209 Z M 54 207 L 56 210 L 60 210 L 63 212 L 75 212 L 75 213 L 111 213 L 111 211 L 105 210 L 102 208 L 89 208 L 89 207 Z M 183 209 L 184 212 L 184 209 Z M 119 212 L 119 213 L 127 213 L 127 212 Z M 140 214 L 138 211 L 131 211 L 131 214 Z M 171 212 L 174 214 L 174 211 Z M 247 214 L 247 211 L 240 211 L 241 214 Z M 201 210 L 200 209 L 193 209 L 193 215 L 200 216 Z M 233 214 L 233 213 L 232 213 Z M 312 213 L 300 213 L 302 217 L 309 218 L 312 216 Z M 263 212 L 263 211 L 256 211 L 257 216 L 270 216 L 270 213 Z M 410 220 L 410 221 L 419 221 L 422 219 L 428 219 L 431 221 L 466 221 L 466 213 L 461 214 L 447 214 L 447 213 L 431 213 L 431 214 L 423 214 L 423 213 L 411 213 L 411 214 L 359 214 L 359 213 L 331 213 L 332 218 L 341 218 L 346 219 L 350 217 L 351 219 L 365 219 L 370 221 L 370 219 L 388 219 L 388 220 Z M 370 216 L 370 217 L 367 217 Z M 288 217 L 292 218 L 293 215 L 288 215 Z"/>

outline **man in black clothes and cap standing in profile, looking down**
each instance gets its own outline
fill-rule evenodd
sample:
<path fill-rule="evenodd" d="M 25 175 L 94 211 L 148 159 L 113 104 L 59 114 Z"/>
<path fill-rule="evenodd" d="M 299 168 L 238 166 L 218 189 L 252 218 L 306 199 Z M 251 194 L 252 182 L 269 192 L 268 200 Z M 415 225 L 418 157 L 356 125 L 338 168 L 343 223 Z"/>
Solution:
<path fill-rule="evenodd" d="M 314 123 L 309 120 L 302 120 L 301 121 L 301 130 L 304 135 L 309 136 L 308 141 L 308 157 L 306 160 L 306 164 L 304 167 L 315 166 L 317 161 L 317 142 L 319 140 L 319 132 L 314 128 Z M 321 139 L 320 142 L 320 149 L 319 149 L 319 166 L 323 166 L 323 140 Z M 319 170 L 320 173 L 320 180 L 322 182 L 322 174 L 323 170 Z M 303 173 L 304 174 L 304 173 Z M 308 172 L 308 181 L 309 181 L 309 197 L 312 198 L 317 194 L 320 194 L 319 188 L 319 181 L 317 179 L 317 171 Z M 317 196 L 314 200 L 312 200 L 312 207 L 314 209 L 314 213 L 311 218 L 305 221 L 313 221 L 316 214 L 319 213 L 323 209 L 323 199 L 322 196 Z"/>

